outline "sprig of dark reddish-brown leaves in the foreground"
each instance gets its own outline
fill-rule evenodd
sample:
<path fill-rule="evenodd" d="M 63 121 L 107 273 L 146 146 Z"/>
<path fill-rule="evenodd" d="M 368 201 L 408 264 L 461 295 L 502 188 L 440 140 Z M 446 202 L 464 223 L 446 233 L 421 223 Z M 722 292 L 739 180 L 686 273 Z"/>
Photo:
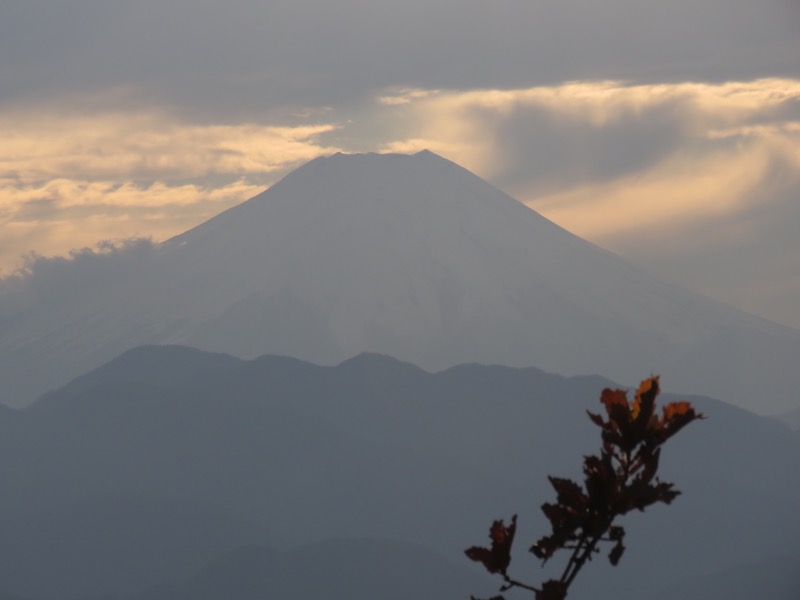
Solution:
<path fill-rule="evenodd" d="M 569 561 L 559 579 L 536 588 L 508 575 L 516 515 L 508 527 L 502 520 L 492 524 L 491 548 L 466 550 L 470 559 L 503 576 L 500 591 L 520 587 L 534 592 L 536 600 L 563 600 L 580 569 L 598 552 L 600 542 L 613 544 L 608 558 L 612 565 L 619 563 L 625 551 L 625 530 L 615 524 L 617 517 L 632 510 L 643 511 L 656 502 L 670 504 L 680 494 L 672 483 L 657 476 L 661 446 L 703 415 L 689 402 L 672 402 L 658 414 L 658 393 L 658 377 L 644 380 L 630 402 L 624 390 L 603 390 L 600 402 L 606 418 L 587 411 L 600 427 L 602 447 L 599 455 L 584 457 L 583 487 L 570 479 L 548 477 L 556 501 L 543 504 L 542 512 L 550 522 L 551 533 L 531 546 L 530 552 L 544 563 L 558 550 L 569 550 Z M 492 600 L 501 599 L 496 596 Z"/>

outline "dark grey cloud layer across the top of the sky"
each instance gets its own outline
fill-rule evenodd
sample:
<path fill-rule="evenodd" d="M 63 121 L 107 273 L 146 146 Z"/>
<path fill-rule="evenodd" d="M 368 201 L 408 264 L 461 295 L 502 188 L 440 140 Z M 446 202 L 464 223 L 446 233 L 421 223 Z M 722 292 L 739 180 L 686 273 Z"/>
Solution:
<path fill-rule="evenodd" d="M 788 0 L 6 0 L 0 99 L 124 87 L 241 119 L 345 107 L 388 85 L 791 75 L 796 9 Z"/>

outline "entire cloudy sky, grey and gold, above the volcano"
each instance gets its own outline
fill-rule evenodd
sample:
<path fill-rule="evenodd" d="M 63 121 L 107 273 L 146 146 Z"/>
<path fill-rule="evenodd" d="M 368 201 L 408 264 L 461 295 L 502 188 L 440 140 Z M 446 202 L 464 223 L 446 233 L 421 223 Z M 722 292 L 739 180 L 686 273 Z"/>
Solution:
<path fill-rule="evenodd" d="M 800 0 L 4 0 L 0 273 L 428 148 L 800 328 Z"/>

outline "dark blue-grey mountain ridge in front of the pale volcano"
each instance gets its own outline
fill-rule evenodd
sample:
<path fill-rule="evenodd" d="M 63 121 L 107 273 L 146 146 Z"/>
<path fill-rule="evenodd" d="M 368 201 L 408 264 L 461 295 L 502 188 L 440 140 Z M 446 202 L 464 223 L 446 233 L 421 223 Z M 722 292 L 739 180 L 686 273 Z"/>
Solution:
<path fill-rule="evenodd" d="M 374 354 L 325 367 L 131 350 L 0 413 L 0 590 L 304 600 L 323 578 L 365 600 L 491 595 L 495 582 L 463 549 L 515 512 L 520 548 L 545 533 L 546 476 L 571 476 L 597 450 L 585 411 L 606 386 L 531 368 L 432 374 Z M 590 565 L 576 597 L 699 599 L 712 584 L 727 590 L 732 570 L 752 574 L 742 589 L 797 597 L 790 574 L 758 574 L 800 558 L 800 440 L 772 419 L 690 400 L 710 418 L 661 459 L 683 495 L 626 518 L 623 561 Z M 512 570 L 540 578 L 524 551 Z"/>

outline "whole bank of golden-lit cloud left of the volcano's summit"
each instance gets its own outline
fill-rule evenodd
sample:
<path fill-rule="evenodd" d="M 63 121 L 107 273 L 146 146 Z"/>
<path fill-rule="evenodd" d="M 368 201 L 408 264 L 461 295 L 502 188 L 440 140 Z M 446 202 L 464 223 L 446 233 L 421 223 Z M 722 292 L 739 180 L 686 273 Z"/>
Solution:
<path fill-rule="evenodd" d="M 165 239 L 338 151 L 330 123 L 186 123 L 165 111 L 0 112 L 0 274 L 30 251 Z"/>

